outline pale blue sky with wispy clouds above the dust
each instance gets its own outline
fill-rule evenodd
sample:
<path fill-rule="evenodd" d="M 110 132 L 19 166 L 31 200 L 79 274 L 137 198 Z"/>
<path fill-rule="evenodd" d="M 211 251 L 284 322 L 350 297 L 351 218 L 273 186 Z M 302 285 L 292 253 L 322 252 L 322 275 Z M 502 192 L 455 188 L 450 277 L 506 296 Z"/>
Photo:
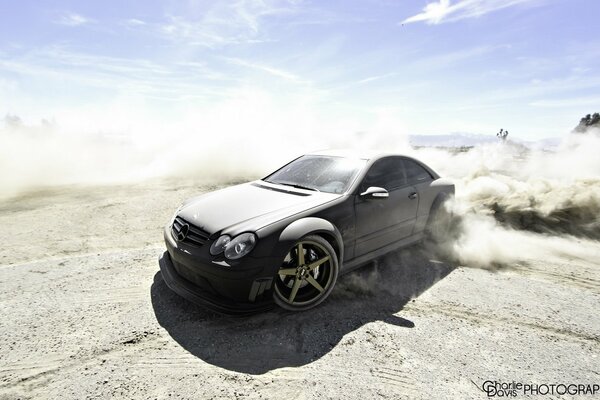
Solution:
<path fill-rule="evenodd" d="M 229 104 L 310 129 L 560 136 L 600 111 L 598 15 L 592 0 L 0 0 L 0 114 L 118 130 Z"/>

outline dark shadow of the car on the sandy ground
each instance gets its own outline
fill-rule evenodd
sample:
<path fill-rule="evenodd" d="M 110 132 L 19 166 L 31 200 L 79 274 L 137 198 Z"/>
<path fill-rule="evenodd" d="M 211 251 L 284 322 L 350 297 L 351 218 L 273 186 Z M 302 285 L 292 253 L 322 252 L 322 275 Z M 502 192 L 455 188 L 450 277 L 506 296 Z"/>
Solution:
<path fill-rule="evenodd" d="M 315 361 L 372 321 L 414 327 L 397 314 L 453 269 L 423 246 L 413 246 L 342 276 L 323 304 L 301 313 L 214 314 L 173 293 L 160 272 L 151 297 L 158 323 L 184 349 L 215 366 L 263 374 Z"/>

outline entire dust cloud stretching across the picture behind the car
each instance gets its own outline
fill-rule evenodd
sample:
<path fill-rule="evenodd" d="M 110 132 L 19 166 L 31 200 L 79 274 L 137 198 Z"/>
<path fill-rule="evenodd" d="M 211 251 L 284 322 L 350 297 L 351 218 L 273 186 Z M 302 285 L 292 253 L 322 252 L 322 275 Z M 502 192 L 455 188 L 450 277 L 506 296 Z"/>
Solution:
<path fill-rule="evenodd" d="M 462 265 L 494 268 L 528 258 L 597 262 L 600 132 L 565 133 L 555 149 L 507 141 L 469 151 L 410 147 L 402 123 L 324 116 L 306 103 L 241 92 L 166 123 L 127 108 L 71 113 L 56 122 L 0 124 L 0 197 L 55 185 L 191 177 L 251 180 L 323 148 L 381 148 L 415 156 L 453 179 L 456 216 L 444 246 Z M 350 133 L 349 132 L 354 132 Z"/>

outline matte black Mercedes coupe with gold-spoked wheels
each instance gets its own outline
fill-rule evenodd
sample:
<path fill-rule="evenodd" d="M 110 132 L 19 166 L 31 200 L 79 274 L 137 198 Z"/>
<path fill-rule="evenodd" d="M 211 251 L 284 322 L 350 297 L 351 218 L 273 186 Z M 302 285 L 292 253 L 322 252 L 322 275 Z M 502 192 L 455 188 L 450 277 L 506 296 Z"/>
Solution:
<path fill-rule="evenodd" d="M 447 227 L 454 185 L 394 154 L 307 154 L 186 201 L 164 230 L 166 284 L 223 313 L 321 303 L 346 273 Z"/>

